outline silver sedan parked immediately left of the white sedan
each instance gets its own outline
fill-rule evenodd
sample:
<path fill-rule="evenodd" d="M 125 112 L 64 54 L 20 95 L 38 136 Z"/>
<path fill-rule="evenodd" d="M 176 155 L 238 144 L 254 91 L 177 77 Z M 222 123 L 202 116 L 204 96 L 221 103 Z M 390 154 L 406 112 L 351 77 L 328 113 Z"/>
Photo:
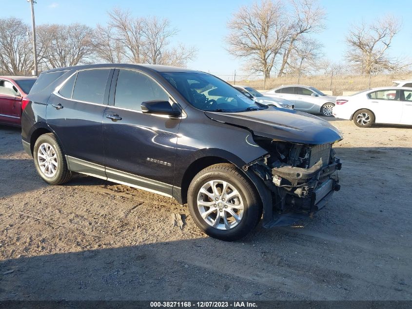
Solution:
<path fill-rule="evenodd" d="M 286 99 L 294 104 L 296 110 L 323 116 L 332 116 L 336 100 L 336 97 L 303 85 L 281 86 L 265 92 L 265 96 Z"/>

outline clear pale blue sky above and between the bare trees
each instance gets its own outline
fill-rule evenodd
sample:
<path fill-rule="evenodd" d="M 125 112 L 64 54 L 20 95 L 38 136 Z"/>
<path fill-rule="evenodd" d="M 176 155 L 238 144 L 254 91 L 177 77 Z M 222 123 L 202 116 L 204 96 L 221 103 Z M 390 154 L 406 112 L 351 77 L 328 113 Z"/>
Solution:
<path fill-rule="evenodd" d="M 156 15 L 167 18 L 179 29 L 176 41 L 195 45 L 196 60 L 189 66 L 218 75 L 238 74 L 243 63 L 224 49 L 226 23 L 239 6 L 253 0 L 37 0 L 36 23 L 81 22 L 89 26 L 107 21 L 106 12 L 113 7 L 128 8 L 135 16 Z M 351 23 L 373 21 L 387 13 L 402 19 L 402 29 L 392 41 L 390 54 L 411 58 L 412 0 L 321 0 L 327 12 L 327 29 L 313 36 L 324 45 L 325 56 L 340 62 L 346 49 L 345 35 Z M 30 23 L 27 0 L 0 0 L 0 18 L 19 17 Z"/>

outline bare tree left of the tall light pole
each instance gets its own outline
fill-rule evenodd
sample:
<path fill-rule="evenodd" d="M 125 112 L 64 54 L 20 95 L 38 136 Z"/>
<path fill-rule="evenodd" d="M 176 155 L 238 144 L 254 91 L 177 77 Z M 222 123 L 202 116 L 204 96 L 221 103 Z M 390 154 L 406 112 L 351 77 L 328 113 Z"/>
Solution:
<path fill-rule="evenodd" d="M 11 17 L 0 19 L 0 62 L 10 75 L 21 75 L 33 68 L 29 25 Z"/>

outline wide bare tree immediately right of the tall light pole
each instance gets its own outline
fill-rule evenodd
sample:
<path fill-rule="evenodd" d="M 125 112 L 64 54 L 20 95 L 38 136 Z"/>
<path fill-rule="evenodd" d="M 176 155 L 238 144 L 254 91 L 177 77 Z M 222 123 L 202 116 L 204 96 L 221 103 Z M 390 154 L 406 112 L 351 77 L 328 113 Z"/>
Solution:
<path fill-rule="evenodd" d="M 86 25 L 40 25 L 37 33 L 42 58 L 49 68 L 85 63 L 92 55 L 92 29 Z"/>

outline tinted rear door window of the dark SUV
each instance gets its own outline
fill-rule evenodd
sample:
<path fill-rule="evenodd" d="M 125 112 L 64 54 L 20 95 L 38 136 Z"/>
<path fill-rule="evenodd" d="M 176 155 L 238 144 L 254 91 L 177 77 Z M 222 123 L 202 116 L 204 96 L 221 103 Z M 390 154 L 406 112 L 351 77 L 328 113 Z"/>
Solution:
<path fill-rule="evenodd" d="M 110 69 L 78 72 L 73 89 L 73 100 L 102 104 L 109 73 Z"/>

